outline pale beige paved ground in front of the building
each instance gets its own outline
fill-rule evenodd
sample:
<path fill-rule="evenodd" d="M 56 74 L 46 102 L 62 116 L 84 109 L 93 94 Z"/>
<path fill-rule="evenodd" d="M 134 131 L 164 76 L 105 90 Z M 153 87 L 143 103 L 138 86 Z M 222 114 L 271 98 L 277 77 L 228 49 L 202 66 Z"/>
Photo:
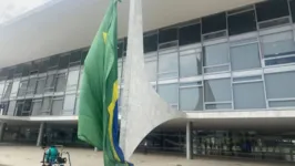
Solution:
<path fill-rule="evenodd" d="M 102 166 L 102 154 L 91 149 L 69 148 L 72 166 Z M 0 146 L 0 166 L 41 166 L 43 151 L 31 146 Z M 255 163 L 245 160 L 226 160 L 136 154 L 131 162 L 135 166 L 291 166 L 282 163 Z M 293 165 L 294 166 L 294 165 Z"/>

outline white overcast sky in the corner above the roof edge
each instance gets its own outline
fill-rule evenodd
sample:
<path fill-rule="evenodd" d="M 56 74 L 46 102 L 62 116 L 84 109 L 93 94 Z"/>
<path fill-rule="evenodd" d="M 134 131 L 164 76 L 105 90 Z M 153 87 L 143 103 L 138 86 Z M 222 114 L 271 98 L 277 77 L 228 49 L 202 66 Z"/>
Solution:
<path fill-rule="evenodd" d="M 35 9 L 49 0 L 0 0 L 0 24 Z"/>

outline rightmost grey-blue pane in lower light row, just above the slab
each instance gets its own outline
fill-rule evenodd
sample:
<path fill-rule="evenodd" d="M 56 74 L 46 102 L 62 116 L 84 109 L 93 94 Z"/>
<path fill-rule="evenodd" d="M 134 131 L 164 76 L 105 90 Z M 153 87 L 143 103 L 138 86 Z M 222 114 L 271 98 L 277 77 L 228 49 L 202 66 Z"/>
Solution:
<path fill-rule="evenodd" d="M 265 75 L 267 98 L 295 97 L 295 72 Z"/>

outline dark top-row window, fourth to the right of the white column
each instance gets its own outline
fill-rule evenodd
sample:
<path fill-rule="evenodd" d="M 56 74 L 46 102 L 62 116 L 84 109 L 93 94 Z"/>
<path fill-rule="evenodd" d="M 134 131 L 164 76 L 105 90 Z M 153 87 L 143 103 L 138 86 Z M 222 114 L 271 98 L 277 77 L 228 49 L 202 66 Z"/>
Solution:
<path fill-rule="evenodd" d="M 225 12 L 214 15 L 205 17 L 202 19 L 202 33 L 210 33 L 226 29 L 226 15 Z"/>

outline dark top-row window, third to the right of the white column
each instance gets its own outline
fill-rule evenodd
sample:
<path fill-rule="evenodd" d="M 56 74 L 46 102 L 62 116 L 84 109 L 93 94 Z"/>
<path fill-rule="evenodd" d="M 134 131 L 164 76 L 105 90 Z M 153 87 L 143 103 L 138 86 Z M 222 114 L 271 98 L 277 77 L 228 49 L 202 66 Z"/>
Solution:
<path fill-rule="evenodd" d="M 201 42 L 201 25 L 192 24 L 180 29 L 180 45 Z"/>

